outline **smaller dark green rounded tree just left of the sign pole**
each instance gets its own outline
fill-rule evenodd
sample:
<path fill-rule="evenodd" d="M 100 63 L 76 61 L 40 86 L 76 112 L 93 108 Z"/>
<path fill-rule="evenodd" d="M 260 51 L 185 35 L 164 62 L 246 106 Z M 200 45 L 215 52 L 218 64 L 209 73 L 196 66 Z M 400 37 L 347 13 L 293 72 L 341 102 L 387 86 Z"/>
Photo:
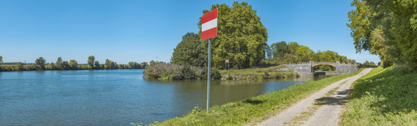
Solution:
<path fill-rule="evenodd" d="M 186 33 L 172 53 L 172 63 L 178 65 L 207 65 L 208 50 L 197 33 Z"/>

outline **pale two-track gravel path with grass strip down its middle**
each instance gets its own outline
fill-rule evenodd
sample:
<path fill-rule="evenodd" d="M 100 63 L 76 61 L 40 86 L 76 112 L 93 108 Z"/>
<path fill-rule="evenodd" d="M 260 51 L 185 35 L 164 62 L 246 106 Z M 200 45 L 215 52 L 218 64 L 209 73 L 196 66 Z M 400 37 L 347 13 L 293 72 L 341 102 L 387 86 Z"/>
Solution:
<path fill-rule="evenodd" d="M 327 86 L 322 90 L 313 93 L 304 100 L 297 102 L 278 115 L 264 120 L 258 125 L 294 125 L 293 123 L 290 123 L 291 118 L 301 116 L 303 111 L 309 111 L 308 108 L 313 107 L 313 104 L 320 100 L 320 97 L 325 96 L 327 92 L 337 88 L 340 86 L 340 84 L 343 84 L 339 89 L 336 90 L 335 93 L 327 97 L 327 101 L 322 103 L 323 106 L 318 107 L 316 112 L 313 113 L 313 116 L 306 117 L 306 121 L 298 123 L 300 125 L 337 125 L 337 123 L 339 123 L 339 113 L 341 113 L 341 107 L 345 104 L 345 100 L 347 99 L 348 92 L 352 83 L 371 70 L 372 68 L 366 68 L 353 77 L 348 77 L 346 79 L 334 82 L 330 86 Z"/>

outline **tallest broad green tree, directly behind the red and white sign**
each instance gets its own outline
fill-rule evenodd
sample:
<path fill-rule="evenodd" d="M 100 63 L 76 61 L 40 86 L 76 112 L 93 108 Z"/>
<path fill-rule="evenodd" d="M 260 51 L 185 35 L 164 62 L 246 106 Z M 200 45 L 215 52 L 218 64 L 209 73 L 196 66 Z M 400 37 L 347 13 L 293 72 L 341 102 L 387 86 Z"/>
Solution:
<path fill-rule="evenodd" d="M 212 38 L 213 65 L 223 68 L 225 59 L 231 61 L 236 68 L 256 66 L 264 58 L 264 47 L 267 45 L 267 28 L 260 22 L 256 10 L 246 2 L 235 1 L 232 7 L 217 4 L 211 10 L 218 8 L 218 36 Z M 210 10 L 203 10 L 203 14 Z M 200 17 L 199 36 L 202 31 Z M 208 47 L 208 42 L 204 41 Z"/>

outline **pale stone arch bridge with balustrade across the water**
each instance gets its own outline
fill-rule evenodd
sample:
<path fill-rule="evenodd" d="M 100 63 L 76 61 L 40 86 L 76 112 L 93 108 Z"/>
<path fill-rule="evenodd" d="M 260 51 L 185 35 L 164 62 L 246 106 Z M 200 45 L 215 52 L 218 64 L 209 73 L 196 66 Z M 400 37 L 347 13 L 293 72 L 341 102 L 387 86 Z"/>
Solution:
<path fill-rule="evenodd" d="M 352 73 L 358 70 L 358 65 L 351 64 L 351 63 L 340 63 L 336 61 L 336 63 L 314 63 L 310 61 L 309 63 L 290 63 L 290 65 L 286 65 L 288 70 L 294 70 L 294 72 L 314 72 L 314 67 L 317 65 L 332 65 L 336 68 L 336 73 Z"/>

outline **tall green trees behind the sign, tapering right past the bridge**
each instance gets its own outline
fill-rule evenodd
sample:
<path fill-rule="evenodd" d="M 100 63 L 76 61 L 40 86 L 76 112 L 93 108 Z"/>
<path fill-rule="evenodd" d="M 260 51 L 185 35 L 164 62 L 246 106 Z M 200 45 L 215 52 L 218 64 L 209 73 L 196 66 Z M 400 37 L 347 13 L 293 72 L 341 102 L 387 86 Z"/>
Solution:
<path fill-rule="evenodd" d="M 334 51 L 314 52 L 297 42 L 275 42 L 267 45 L 267 29 L 260 22 L 256 10 L 246 2 L 234 2 L 232 7 L 226 4 L 213 5 L 218 8 L 218 36 L 212 38 L 212 67 L 225 68 L 225 59 L 229 59 L 230 68 L 242 69 L 263 65 L 282 65 L 308 61 L 340 61 L 356 63 L 355 60 L 340 56 Z M 210 10 L 203 10 L 203 14 Z M 244 15 L 243 15 L 244 14 Z M 197 26 L 199 33 L 186 33 L 174 48 L 171 63 L 194 65 L 204 68 L 208 60 L 208 41 L 201 40 L 202 21 Z M 358 63 L 359 64 L 359 63 Z M 330 69 L 330 66 L 318 66 L 316 69 Z"/>

